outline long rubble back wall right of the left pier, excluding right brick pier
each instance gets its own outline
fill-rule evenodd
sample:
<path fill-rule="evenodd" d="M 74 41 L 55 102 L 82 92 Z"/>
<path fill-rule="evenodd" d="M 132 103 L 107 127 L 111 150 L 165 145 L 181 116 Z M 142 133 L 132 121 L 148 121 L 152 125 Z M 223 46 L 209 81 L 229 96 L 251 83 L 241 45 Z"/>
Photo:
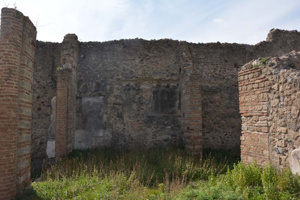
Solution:
<path fill-rule="evenodd" d="M 238 148 L 241 144 L 238 71 L 259 56 L 281 56 L 299 49 L 299 41 L 297 31 L 274 29 L 267 41 L 256 45 L 194 44 L 168 39 L 81 42 L 76 70 L 79 126 L 75 135 L 89 137 L 88 143 L 94 147 L 179 144 L 181 77 L 194 74 L 201 85 L 203 148 Z M 99 110 L 103 109 L 99 122 L 102 124 L 94 131 L 84 128 L 88 119 L 84 109 L 88 107 L 82 104 L 83 98 L 90 98 L 93 104 L 98 102 Z M 75 141 L 80 139 L 75 137 Z M 41 148 L 46 152 L 45 145 Z"/>

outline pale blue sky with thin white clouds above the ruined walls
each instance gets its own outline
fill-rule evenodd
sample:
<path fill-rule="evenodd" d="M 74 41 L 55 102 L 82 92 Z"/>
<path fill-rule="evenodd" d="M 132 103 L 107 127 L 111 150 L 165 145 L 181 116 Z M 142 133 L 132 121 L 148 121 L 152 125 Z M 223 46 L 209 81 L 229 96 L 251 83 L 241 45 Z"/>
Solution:
<path fill-rule="evenodd" d="M 4 0 L 37 25 L 37 39 L 61 42 L 172 38 L 256 44 L 272 28 L 300 31 L 300 0 Z M 6 7 L 0 2 L 2 7 Z"/>

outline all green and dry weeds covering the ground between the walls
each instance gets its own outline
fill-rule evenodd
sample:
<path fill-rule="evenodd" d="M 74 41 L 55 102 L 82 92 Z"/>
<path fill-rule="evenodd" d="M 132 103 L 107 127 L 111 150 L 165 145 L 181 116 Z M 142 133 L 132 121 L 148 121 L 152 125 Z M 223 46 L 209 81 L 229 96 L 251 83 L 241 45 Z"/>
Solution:
<path fill-rule="evenodd" d="M 300 199 L 300 177 L 289 169 L 277 173 L 269 165 L 261 170 L 238 157 L 204 151 L 200 158 L 176 148 L 73 151 L 44 169 L 43 181 L 33 182 L 16 199 Z"/>

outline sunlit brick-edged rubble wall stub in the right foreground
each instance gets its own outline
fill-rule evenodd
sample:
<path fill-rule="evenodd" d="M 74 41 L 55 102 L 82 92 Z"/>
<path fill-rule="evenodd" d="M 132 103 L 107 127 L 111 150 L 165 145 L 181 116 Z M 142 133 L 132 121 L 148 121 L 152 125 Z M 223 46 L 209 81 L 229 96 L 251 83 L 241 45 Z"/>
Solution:
<path fill-rule="evenodd" d="M 251 61 L 239 73 L 241 158 L 300 172 L 300 54 L 266 59 L 265 65 Z"/>

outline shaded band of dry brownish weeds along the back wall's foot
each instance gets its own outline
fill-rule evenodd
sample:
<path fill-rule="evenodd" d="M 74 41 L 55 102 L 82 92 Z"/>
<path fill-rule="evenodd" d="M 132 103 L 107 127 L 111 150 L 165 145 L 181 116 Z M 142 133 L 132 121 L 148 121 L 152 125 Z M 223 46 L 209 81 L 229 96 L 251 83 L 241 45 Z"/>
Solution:
<path fill-rule="evenodd" d="M 182 149 L 111 150 L 95 149 L 73 151 L 58 165 L 46 169 L 44 178 L 70 178 L 97 172 L 99 177 L 109 174 L 123 174 L 129 177 L 133 172 L 143 184 L 151 186 L 162 183 L 166 174 L 174 178 L 208 180 L 208 176 L 226 172 L 227 160 L 205 153 L 203 157 L 187 155 Z"/>

